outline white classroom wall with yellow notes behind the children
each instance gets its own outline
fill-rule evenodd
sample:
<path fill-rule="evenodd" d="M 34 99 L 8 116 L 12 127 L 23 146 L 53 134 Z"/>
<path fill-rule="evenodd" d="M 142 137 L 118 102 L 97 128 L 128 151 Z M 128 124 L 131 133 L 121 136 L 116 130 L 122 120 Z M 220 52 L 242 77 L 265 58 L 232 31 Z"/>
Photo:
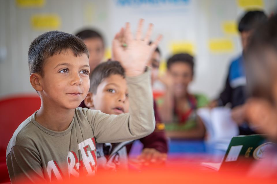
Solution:
<path fill-rule="evenodd" d="M 241 52 L 238 35 L 222 31 L 222 21 L 237 20 L 244 12 L 235 0 L 44 0 L 42 7 L 18 7 L 15 0 L 0 0 L 0 97 L 34 92 L 29 83 L 27 52 L 31 41 L 48 30 L 34 30 L 31 16 L 55 13 L 61 18 L 59 30 L 75 33 L 83 26 L 101 30 L 110 47 L 114 34 L 124 22 L 136 27 L 139 18 L 155 25 L 153 39 L 164 35 L 160 44 L 164 59 L 171 54 L 171 41 L 194 44 L 196 76 L 191 91 L 213 98 L 223 88 L 232 58 Z M 153 4 L 154 2 L 154 4 Z M 269 14 L 276 0 L 264 0 Z M 225 53 L 209 51 L 209 39 L 229 38 L 235 47 Z M 6 53 L 6 54 L 5 54 Z"/>

